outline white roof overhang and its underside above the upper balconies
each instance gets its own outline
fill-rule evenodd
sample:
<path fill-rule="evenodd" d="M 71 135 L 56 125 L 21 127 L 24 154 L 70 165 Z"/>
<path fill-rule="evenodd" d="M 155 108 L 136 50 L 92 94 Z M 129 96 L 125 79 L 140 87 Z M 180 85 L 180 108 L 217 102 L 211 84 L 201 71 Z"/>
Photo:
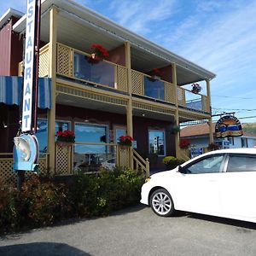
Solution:
<path fill-rule="evenodd" d="M 49 42 L 49 9 L 52 6 L 58 9 L 57 41 L 61 44 L 89 51 L 90 44 L 103 44 L 110 50 L 128 41 L 131 44 L 131 67 L 134 69 L 147 72 L 154 67 L 166 67 L 176 63 L 179 85 L 213 79 L 216 76 L 205 68 L 71 0 L 42 1 L 41 39 L 45 42 Z M 20 33 L 26 32 L 26 15 L 15 24 L 14 30 Z M 87 36 L 88 34 L 90 37 Z"/>

